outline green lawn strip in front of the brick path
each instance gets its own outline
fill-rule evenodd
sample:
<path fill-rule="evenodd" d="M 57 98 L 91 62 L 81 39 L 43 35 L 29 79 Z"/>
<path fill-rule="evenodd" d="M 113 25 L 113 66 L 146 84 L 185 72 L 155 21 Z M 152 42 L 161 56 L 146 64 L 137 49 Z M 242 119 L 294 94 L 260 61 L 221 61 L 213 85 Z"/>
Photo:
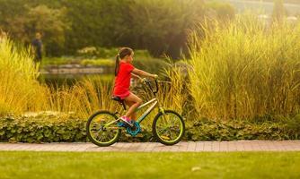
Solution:
<path fill-rule="evenodd" d="M 0 152 L 6 178 L 300 178 L 300 152 Z"/>

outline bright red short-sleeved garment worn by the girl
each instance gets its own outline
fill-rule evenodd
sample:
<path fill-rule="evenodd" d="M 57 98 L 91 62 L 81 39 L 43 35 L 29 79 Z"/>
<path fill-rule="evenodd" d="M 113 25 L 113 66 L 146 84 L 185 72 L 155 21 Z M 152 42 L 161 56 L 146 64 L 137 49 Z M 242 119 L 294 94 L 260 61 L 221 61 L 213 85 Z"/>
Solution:
<path fill-rule="evenodd" d="M 131 72 L 135 69 L 132 64 L 120 62 L 119 72 L 115 79 L 115 86 L 113 90 L 114 96 L 121 96 L 129 91 Z"/>

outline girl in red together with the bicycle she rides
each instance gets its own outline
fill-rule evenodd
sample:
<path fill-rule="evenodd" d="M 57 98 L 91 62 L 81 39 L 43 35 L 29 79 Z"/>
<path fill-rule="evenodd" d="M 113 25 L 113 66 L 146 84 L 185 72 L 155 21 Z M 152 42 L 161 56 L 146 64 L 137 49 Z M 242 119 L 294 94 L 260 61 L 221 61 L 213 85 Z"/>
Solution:
<path fill-rule="evenodd" d="M 151 81 L 143 80 L 148 90 L 153 93 L 153 99 L 141 105 L 142 99 L 138 98 L 129 90 L 131 76 L 138 75 L 150 78 L 157 78 L 156 74 L 144 72 L 135 68 L 131 63 L 133 61 L 134 52 L 131 48 L 123 47 L 120 49 L 116 57 L 115 68 L 115 85 L 113 89 L 113 100 L 119 101 L 124 107 L 124 103 L 129 106 L 128 111 L 115 111 L 114 113 L 107 110 L 100 110 L 89 117 L 86 123 L 86 134 L 90 141 L 94 144 L 106 147 L 114 144 L 119 140 L 122 130 L 136 137 L 141 132 L 140 124 L 149 115 L 154 108 L 157 109 L 157 114 L 154 116 L 152 124 L 152 132 L 154 138 L 164 145 L 174 145 L 181 141 L 184 135 L 184 121 L 181 115 L 176 111 L 164 109 L 159 103 L 157 92 L 159 85 L 157 79 L 154 80 L 155 87 Z M 151 106 L 150 106 L 151 105 Z M 144 107 L 146 109 L 143 115 L 136 119 L 136 112 Z M 126 108 L 126 107 L 124 107 Z M 125 114 L 126 113 L 126 114 Z M 125 115 L 123 115 L 125 114 Z M 123 115 L 123 116 L 122 116 Z M 134 120 L 131 121 L 130 119 Z"/>

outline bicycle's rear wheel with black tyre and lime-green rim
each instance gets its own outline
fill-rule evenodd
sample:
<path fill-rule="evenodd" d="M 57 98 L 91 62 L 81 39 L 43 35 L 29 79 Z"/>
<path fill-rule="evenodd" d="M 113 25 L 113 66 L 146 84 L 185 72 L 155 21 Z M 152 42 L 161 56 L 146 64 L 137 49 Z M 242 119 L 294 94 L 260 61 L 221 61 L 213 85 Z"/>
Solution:
<path fill-rule="evenodd" d="M 121 130 L 117 126 L 118 117 L 108 111 L 97 112 L 86 123 L 86 134 L 93 144 L 106 147 L 119 140 Z"/>

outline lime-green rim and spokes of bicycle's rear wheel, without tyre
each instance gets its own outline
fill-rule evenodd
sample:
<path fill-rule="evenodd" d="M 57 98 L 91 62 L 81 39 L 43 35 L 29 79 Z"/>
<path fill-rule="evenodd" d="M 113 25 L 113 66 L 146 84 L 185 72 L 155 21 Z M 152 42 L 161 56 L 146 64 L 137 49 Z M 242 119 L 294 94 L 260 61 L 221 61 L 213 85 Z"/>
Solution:
<path fill-rule="evenodd" d="M 103 129 L 105 124 L 115 121 L 115 117 L 110 114 L 95 115 L 89 125 L 89 132 L 93 139 L 101 144 L 109 144 L 118 138 L 119 128 L 115 125 L 115 129 Z M 114 125 L 114 124 L 112 124 Z"/>

